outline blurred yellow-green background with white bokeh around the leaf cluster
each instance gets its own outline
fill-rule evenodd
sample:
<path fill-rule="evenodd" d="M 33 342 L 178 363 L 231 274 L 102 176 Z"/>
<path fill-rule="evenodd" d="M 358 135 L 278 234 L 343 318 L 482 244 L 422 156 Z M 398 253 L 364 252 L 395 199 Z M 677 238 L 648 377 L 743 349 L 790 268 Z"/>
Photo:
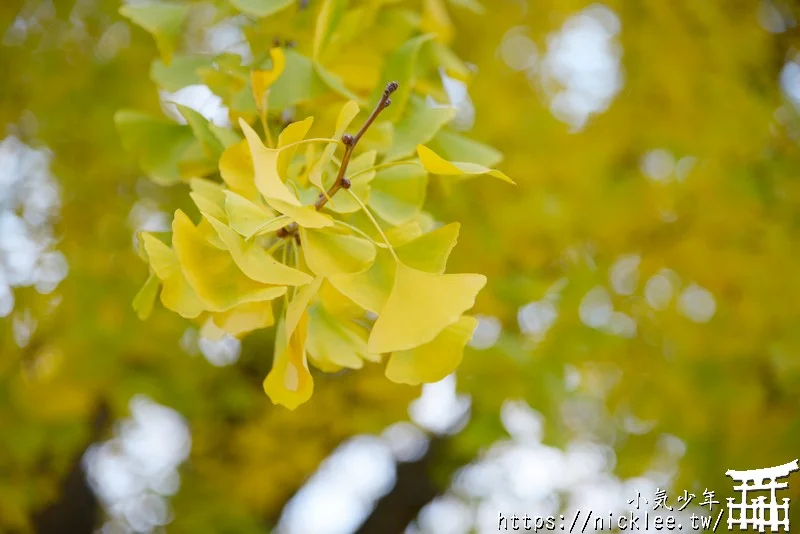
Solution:
<path fill-rule="evenodd" d="M 290 412 L 268 333 L 130 305 L 134 233 L 186 190 L 142 176 L 114 113 L 225 121 L 219 99 L 159 94 L 118 0 L 0 2 L 0 531 L 494 532 L 657 488 L 716 516 L 727 469 L 797 458 L 798 5 L 447 6 L 476 73 L 452 126 L 518 182 L 429 191 L 454 270 L 489 276 L 479 327 L 442 382 L 320 374 Z M 239 24 L 193 46 L 246 53 Z"/>

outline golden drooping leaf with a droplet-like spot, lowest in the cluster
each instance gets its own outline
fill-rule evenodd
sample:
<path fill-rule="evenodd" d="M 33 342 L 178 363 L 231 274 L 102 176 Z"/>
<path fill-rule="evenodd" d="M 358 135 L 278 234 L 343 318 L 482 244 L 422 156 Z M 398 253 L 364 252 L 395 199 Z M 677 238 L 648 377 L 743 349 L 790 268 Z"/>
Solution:
<path fill-rule="evenodd" d="M 278 323 L 272 369 L 264 379 L 264 391 L 273 404 L 290 410 L 308 401 L 314 392 L 314 380 L 306 359 L 307 325 L 308 315 L 303 314 L 287 342 L 283 322 Z"/>

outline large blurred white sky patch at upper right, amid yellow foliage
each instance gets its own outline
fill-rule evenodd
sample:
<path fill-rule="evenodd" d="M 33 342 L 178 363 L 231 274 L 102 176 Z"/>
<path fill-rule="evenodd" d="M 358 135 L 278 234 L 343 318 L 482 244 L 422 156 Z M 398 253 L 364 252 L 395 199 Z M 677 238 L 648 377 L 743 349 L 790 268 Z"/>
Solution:
<path fill-rule="evenodd" d="M 539 78 L 550 99 L 550 111 L 573 131 L 605 111 L 622 89 L 622 48 L 617 41 L 619 17 L 594 4 L 573 15 L 547 37 Z"/>

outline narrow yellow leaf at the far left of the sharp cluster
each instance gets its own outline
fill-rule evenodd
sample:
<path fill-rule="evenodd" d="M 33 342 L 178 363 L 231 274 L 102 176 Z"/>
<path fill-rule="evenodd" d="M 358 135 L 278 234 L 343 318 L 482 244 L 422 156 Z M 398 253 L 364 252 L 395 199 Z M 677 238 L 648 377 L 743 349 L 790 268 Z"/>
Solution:
<path fill-rule="evenodd" d="M 145 232 L 140 237 L 150 268 L 161 280 L 161 303 L 164 307 L 187 319 L 200 315 L 205 306 L 189 285 L 175 251 L 151 234 Z"/>

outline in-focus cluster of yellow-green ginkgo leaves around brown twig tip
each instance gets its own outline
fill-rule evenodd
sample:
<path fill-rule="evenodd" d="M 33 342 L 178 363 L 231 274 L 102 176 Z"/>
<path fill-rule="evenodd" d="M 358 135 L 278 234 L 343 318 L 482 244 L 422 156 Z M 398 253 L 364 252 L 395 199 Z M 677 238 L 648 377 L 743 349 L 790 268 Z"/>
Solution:
<path fill-rule="evenodd" d="M 341 4 L 323 2 L 312 58 L 335 41 L 332 13 Z M 173 58 L 164 44 L 164 13 L 142 9 L 123 13 L 155 34 L 160 65 L 175 69 L 186 58 Z M 238 129 L 183 106 L 177 109 L 186 124 L 119 112 L 123 142 L 143 170 L 162 184 L 188 182 L 200 213 L 195 222 L 178 210 L 171 233 L 140 233 L 140 254 L 150 266 L 134 300 L 140 317 L 160 295 L 166 308 L 198 321 L 207 339 L 275 325 L 264 389 L 292 409 L 312 394 L 309 362 L 332 372 L 388 355 L 387 377 L 408 384 L 451 373 L 476 326 L 465 312 L 486 278 L 445 273 L 459 225 L 439 225 L 421 210 L 428 176 L 511 180 L 485 161 L 448 161 L 425 146 L 445 155 L 474 148 L 473 159 L 492 153 L 448 133 L 453 108 L 417 94 L 415 58 L 432 38 L 412 36 L 387 59 L 382 73 L 397 74 L 399 83 L 382 82 L 382 91 L 372 92 L 377 104 L 353 133 L 347 132 L 361 114 L 360 98 L 326 104 L 340 107 L 329 137 L 308 137 L 313 116 L 275 126 L 286 110 L 273 98 L 285 90 L 279 82 L 288 78 L 298 93 L 305 90 L 297 78 L 303 56 L 285 47 L 271 48 L 264 64 L 247 69 L 254 116 L 236 113 L 238 97 L 226 101 Z M 345 82 L 308 61 L 329 87 L 343 89 L 330 92 L 349 93 Z"/>

